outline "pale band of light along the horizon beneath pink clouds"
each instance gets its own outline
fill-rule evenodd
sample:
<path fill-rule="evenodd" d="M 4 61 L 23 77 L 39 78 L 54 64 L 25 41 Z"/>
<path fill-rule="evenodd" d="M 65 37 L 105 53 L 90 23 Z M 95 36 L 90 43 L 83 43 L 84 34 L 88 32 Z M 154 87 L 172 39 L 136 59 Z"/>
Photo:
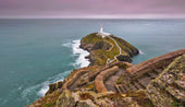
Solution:
<path fill-rule="evenodd" d="M 181 15 L 172 15 L 172 14 L 133 14 L 133 15 L 65 15 L 65 16 L 60 16 L 60 15 L 4 15 L 0 16 L 0 19 L 185 19 L 185 14 Z"/>

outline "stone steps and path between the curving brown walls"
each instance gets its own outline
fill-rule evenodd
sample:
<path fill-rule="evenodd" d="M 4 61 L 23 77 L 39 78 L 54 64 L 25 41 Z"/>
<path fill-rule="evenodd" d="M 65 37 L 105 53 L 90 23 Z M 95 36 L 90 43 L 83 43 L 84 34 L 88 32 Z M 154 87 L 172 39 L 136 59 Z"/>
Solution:
<path fill-rule="evenodd" d="M 110 76 L 109 80 L 104 84 L 107 85 L 108 91 L 114 91 L 118 93 L 126 93 L 127 91 L 145 90 L 147 85 L 149 84 L 149 82 L 153 80 L 155 78 L 157 78 L 163 71 L 163 69 L 164 68 L 151 70 L 150 72 L 143 74 L 140 78 L 136 80 L 131 80 L 131 83 L 128 84 L 116 84 L 116 80 L 123 73 L 119 71 L 116 74 Z M 111 86 L 109 83 L 111 84 L 114 83 L 114 85 Z"/>

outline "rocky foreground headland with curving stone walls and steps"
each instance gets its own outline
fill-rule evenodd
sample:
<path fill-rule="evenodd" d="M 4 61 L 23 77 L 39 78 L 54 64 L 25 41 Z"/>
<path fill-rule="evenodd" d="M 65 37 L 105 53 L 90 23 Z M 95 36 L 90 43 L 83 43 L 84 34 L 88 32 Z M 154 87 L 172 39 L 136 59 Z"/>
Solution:
<path fill-rule="evenodd" d="M 157 64 L 166 60 L 169 64 Z M 55 88 L 58 83 L 52 85 L 55 91 L 51 88 L 28 107 L 183 107 L 185 49 L 146 62 L 150 64 L 118 61 L 106 67 L 75 69 L 62 87 Z"/>

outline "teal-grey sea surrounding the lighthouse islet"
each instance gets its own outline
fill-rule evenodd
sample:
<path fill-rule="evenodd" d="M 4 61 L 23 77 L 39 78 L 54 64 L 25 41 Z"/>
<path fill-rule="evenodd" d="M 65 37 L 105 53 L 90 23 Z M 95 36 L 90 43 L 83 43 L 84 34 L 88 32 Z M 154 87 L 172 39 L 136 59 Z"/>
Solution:
<path fill-rule="evenodd" d="M 185 20 L 2 19 L 0 107 L 26 106 L 42 97 L 48 84 L 87 67 L 81 38 L 101 25 L 139 49 L 133 64 L 185 48 Z"/>

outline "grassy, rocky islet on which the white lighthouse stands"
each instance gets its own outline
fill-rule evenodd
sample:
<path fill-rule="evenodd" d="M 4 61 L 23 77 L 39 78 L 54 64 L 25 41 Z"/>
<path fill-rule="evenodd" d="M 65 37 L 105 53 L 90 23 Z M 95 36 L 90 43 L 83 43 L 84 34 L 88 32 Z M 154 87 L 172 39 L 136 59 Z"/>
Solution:
<path fill-rule="evenodd" d="M 119 61 L 131 62 L 131 57 L 138 54 L 138 49 L 124 39 L 113 35 L 102 38 L 97 33 L 83 37 L 81 48 L 90 52 L 90 66 L 106 66 L 108 59 L 115 57 Z"/>

